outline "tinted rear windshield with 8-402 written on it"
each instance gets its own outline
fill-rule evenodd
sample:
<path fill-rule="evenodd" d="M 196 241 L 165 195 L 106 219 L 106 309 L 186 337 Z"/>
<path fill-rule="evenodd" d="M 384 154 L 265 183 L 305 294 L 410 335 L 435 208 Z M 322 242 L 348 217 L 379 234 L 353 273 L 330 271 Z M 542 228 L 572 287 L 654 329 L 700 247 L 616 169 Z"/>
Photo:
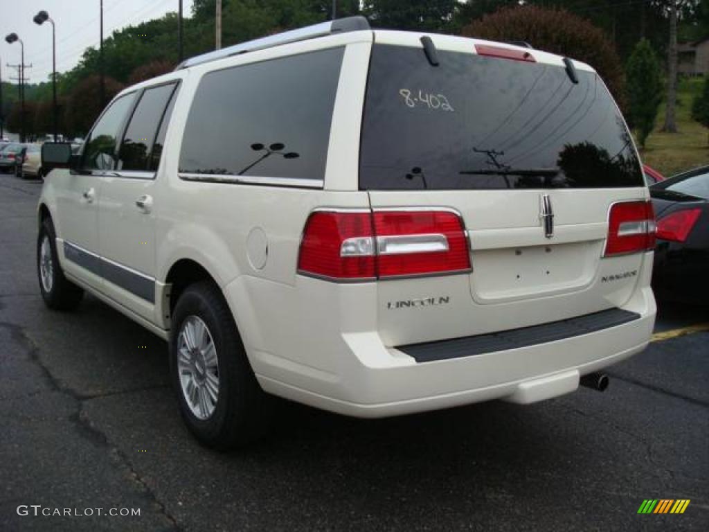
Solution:
<path fill-rule="evenodd" d="M 644 186 L 630 133 L 596 74 L 374 45 L 361 189 Z"/>

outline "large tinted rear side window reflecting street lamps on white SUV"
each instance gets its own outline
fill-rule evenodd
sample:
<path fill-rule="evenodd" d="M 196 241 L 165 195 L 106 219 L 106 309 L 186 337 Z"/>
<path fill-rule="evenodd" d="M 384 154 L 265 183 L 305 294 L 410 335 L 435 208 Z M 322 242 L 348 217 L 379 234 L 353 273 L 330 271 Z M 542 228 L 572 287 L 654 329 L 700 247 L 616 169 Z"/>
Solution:
<path fill-rule="evenodd" d="M 205 74 L 179 171 L 323 179 L 342 48 Z"/>

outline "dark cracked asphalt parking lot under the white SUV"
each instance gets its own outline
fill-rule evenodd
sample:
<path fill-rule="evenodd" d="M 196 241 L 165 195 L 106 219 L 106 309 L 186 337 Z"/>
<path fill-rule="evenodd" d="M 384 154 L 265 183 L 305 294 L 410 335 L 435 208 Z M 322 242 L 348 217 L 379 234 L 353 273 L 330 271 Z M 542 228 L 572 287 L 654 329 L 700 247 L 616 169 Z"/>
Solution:
<path fill-rule="evenodd" d="M 45 309 L 39 192 L 0 174 L 0 531 L 709 530 L 709 309 L 662 308 L 603 394 L 376 421 L 284 404 L 223 455 L 186 432 L 162 340 L 93 297 Z"/>

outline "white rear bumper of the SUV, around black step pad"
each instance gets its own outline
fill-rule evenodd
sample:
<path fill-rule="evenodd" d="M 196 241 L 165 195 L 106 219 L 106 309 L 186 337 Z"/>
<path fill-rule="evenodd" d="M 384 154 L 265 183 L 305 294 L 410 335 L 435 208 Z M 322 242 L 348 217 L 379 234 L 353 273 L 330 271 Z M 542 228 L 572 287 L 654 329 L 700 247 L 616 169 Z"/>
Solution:
<path fill-rule="evenodd" d="M 349 416 L 396 416 L 490 399 L 526 404 L 573 392 L 581 375 L 642 351 L 654 327 L 652 290 L 639 287 L 623 310 L 638 317 L 562 340 L 432 362 L 386 348 L 376 332 L 342 334 L 346 349 L 328 353 L 337 358 L 335 373 L 267 353 L 250 358 L 265 391 Z"/>

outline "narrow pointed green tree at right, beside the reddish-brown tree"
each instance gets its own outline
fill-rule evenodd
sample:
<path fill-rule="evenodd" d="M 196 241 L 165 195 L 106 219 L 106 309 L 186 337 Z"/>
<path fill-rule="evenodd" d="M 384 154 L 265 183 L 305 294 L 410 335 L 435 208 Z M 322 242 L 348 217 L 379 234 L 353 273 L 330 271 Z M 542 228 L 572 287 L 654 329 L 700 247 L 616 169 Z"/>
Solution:
<path fill-rule="evenodd" d="M 662 70 L 649 40 L 641 39 L 635 46 L 627 62 L 626 80 L 627 118 L 644 148 L 645 140 L 655 126 L 664 90 Z"/>

